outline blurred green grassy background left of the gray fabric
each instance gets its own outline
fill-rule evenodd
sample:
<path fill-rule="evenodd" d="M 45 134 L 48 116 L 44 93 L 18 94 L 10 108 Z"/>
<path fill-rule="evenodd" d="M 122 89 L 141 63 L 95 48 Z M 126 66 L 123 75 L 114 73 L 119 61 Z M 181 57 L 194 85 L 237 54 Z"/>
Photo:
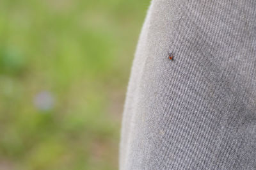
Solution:
<path fill-rule="evenodd" d="M 0 169 L 118 169 L 150 0 L 0 0 Z"/>

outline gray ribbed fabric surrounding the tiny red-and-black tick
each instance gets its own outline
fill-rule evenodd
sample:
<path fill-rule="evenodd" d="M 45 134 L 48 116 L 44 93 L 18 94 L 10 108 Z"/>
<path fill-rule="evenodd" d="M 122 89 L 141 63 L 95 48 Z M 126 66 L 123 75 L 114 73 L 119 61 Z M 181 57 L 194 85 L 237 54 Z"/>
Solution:
<path fill-rule="evenodd" d="M 153 0 L 127 90 L 120 169 L 256 169 L 255 45 L 255 0 Z"/>

